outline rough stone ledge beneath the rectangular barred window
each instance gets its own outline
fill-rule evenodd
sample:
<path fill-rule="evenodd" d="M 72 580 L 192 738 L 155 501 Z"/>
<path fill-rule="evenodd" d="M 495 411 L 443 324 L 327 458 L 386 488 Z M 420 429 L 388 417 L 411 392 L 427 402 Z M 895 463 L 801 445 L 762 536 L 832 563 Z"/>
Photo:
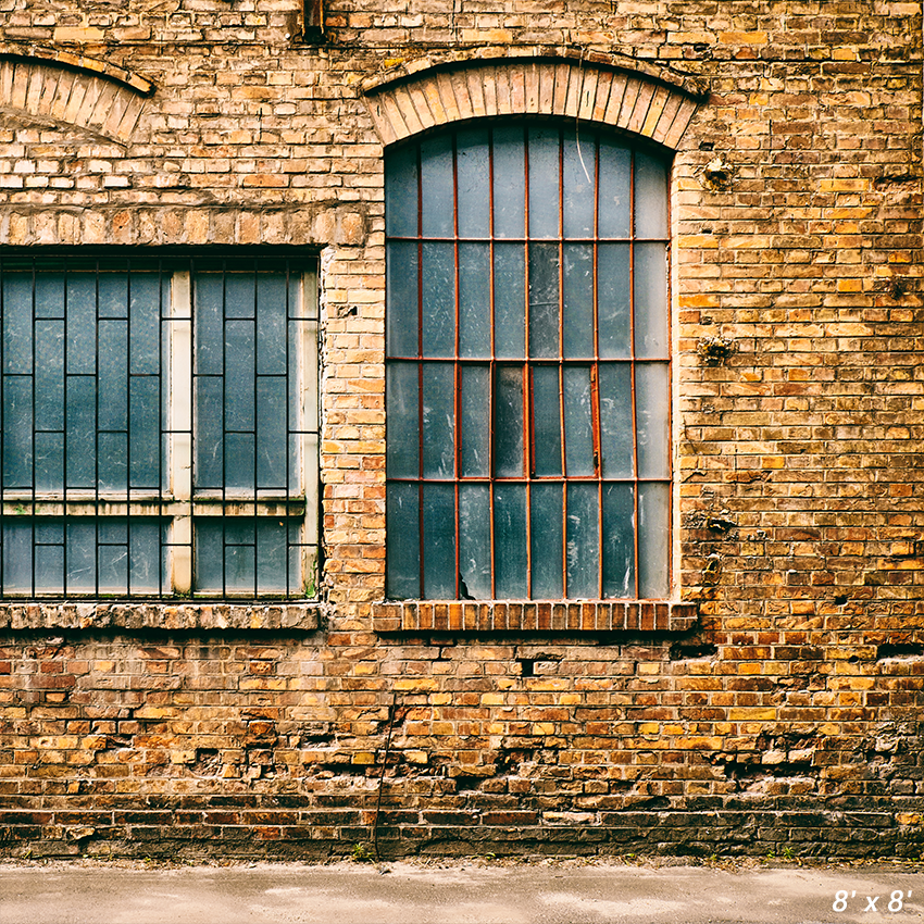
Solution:
<path fill-rule="evenodd" d="M 0 629 L 205 629 L 307 632 L 320 603 L 28 602 L 0 603 Z"/>

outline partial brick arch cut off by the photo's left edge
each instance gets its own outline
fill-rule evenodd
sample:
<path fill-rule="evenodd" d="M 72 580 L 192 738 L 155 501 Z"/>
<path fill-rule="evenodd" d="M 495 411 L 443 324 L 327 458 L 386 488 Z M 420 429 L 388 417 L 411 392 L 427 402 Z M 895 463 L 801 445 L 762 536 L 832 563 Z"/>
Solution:
<path fill-rule="evenodd" d="M 0 49 L 0 109 L 127 143 L 152 85 L 127 72 L 109 73 L 104 62 L 89 67 L 89 59 L 64 57 L 67 60 Z"/>

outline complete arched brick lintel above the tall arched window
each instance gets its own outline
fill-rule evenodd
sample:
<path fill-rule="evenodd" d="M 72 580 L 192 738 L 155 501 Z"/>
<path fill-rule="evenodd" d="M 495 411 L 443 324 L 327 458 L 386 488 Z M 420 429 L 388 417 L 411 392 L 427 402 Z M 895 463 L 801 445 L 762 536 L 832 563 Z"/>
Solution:
<path fill-rule="evenodd" d="M 696 100 L 645 74 L 586 61 L 508 60 L 432 68 L 366 91 L 383 143 L 427 128 L 496 115 L 564 115 L 597 122 L 676 149 Z"/>

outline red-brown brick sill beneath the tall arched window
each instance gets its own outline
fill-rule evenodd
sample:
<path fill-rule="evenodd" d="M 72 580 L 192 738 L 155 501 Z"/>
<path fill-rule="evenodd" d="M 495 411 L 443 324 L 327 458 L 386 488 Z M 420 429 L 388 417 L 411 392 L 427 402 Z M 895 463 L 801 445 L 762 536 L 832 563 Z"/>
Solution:
<path fill-rule="evenodd" d="M 688 632 L 696 603 L 675 600 L 428 600 L 373 603 L 372 627 L 395 632 Z"/>

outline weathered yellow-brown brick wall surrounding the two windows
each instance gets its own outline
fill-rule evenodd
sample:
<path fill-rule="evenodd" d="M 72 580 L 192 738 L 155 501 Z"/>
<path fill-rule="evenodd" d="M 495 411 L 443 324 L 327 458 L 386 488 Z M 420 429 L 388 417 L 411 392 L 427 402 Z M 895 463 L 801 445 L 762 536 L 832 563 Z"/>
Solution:
<path fill-rule="evenodd" d="M 921 852 L 920 2 L 0 11 L 0 242 L 321 252 L 326 546 L 316 605 L 0 604 L 4 850 Z M 382 604 L 383 148 L 479 105 L 675 151 L 664 622 Z"/>

